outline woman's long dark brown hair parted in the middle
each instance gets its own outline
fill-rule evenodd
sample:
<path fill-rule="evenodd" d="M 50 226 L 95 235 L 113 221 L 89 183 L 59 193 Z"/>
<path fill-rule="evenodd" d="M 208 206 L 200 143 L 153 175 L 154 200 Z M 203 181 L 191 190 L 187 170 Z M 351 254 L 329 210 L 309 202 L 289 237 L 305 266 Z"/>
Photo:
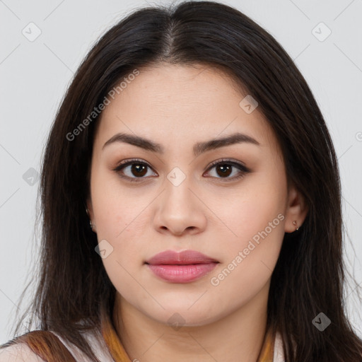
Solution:
<path fill-rule="evenodd" d="M 360 362 L 362 341 L 344 310 L 339 168 L 325 120 L 274 37 L 214 1 L 130 13 L 98 40 L 76 71 L 45 148 L 40 275 L 15 334 L 29 313 L 39 320 L 38 328 L 58 332 L 98 361 L 80 331 L 99 327 L 102 311 L 112 313 L 115 287 L 95 252 L 98 242 L 86 214 L 99 119 L 89 115 L 134 69 L 163 63 L 206 64 L 232 74 L 259 103 L 279 140 L 288 182 L 308 204 L 303 226 L 284 236 L 271 276 L 267 325 L 281 332 L 286 361 Z M 87 117 L 86 127 L 79 127 Z M 312 322 L 321 312 L 331 320 L 323 332 Z M 81 326 L 80 320 L 86 323 Z"/>

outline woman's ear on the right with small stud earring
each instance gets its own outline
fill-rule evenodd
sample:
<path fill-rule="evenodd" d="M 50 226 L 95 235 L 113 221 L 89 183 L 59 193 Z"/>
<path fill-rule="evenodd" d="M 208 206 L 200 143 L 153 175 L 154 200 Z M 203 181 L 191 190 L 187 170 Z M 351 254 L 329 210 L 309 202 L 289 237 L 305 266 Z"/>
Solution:
<path fill-rule="evenodd" d="M 296 189 L 294 185 L 291 185 L 288 191 L 286 221 L 284 223 L 285 232 L 293 233 L 296 228 L 300 228 L 307 214 L 308 206 L 305 204 L 303 195 Z M 293 221 L 295 221 L 295 224 Z"/>

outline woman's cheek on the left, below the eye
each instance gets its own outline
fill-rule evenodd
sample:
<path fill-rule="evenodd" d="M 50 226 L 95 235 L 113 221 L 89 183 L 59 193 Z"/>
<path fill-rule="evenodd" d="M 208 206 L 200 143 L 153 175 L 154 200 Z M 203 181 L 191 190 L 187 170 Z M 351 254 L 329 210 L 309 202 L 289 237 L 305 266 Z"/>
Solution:
<path fill-rule="evenodd" d="M 105 243 L 108 250 L 112 250 L 103 264 L 113 284 L 121 280 L 122 288 L 128 288 L 132 286 L 132 279 L 127 271 L 134 271 L 143 260 L 141 236 L 145 205 L 137 202 L 136 189 L 122 188 L 109 171 L 93 173 L 91 187 L 98 243 Z"/>

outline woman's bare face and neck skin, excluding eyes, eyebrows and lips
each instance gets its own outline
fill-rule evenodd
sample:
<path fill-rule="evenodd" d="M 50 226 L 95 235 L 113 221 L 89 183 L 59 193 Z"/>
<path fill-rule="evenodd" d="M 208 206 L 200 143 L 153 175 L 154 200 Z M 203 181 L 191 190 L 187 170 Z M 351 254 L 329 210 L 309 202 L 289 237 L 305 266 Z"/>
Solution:
<path fill-rule="evenodd" d="M 307 209 L 298 190 L 287 188 L 284 160 L 267 120 L 258 107 L 250 114 L 240 107 L 245 95 L 218 69 L 163 64 L 141 69 L 103 111 L 87 204 L 98 242 L 113 247 L 103 264 L 117 290 L 115 328 L 132 360 L 257 360 L 284 233 L 303 223 Z M 155 141 L 165 153 L 121 142 L 103 149 L 118 132 Z M 252 136 L 259 146 L 232 144 L 194 156 L 197 142 L 234 132 Z M 141 180 L 131 166 L 113 170 L 132 158 L 151 166 Z M 210 169 L 221 158 L 243 163 L 250 172 L 232 180 L 240 174 L 233 167 L 223 177 L 220 166 Z M 167 178 L 175 167 L 186 177 L 177 186 Z M 120 177 L 122 172 L 140 182 Z M 211 278 L 279 214 L 284 216 L 279 225 L 212 285 Z M 189 249 L 219 264 L 186 284 L 163 281 L 144 264 L 158 252 Z M 170 325 L 175 313 L 182 316 L 180 329 Z"/>

